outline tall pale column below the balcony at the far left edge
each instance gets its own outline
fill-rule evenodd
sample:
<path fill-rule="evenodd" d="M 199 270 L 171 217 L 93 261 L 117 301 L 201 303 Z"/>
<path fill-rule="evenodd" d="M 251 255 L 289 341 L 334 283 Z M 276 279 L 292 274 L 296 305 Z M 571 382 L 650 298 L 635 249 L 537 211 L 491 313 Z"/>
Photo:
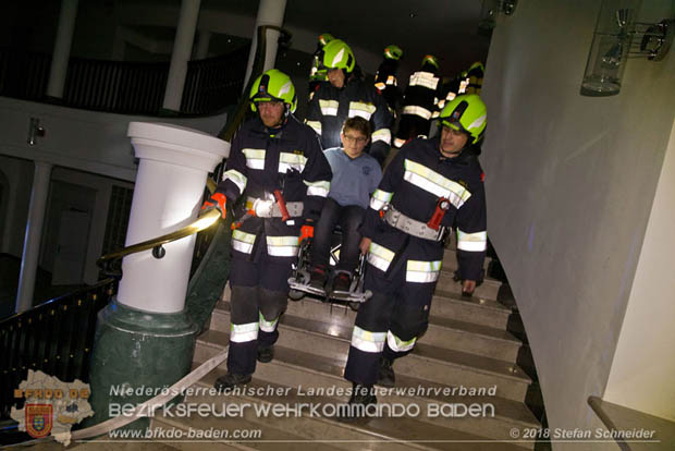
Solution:
<path fill-rule="evenodd" d="M 51 168 L 51 163 L 35 161 L 35 175 L 33 176 L 33 191 L 30 193 L 28 220 L 26 221 L 26 234 L 24 237 L 24 252 L 21 257 L 16 313 L 25 312 L 33 306 L 35 273 L 40 255 L 40 240 L 42 237 L 42 223 L 45 222 Z"/>

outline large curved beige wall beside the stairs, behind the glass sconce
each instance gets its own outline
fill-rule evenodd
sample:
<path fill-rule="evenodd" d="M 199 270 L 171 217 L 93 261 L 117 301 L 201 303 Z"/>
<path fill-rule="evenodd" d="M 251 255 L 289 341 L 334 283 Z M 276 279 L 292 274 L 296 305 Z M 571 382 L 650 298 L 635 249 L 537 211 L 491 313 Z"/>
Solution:
<path fill-rule="evenodd" d="M 488 233 L 552 427 L 594 422 L 587 399 L 604 393 L 675 114 L 673 51 L 630 60 L 618 96 L 579 95 L 599 9 L 518 2 L 494 31 L 483 87 Z M 652 0 L 639 19 L 673 13 Z"/>

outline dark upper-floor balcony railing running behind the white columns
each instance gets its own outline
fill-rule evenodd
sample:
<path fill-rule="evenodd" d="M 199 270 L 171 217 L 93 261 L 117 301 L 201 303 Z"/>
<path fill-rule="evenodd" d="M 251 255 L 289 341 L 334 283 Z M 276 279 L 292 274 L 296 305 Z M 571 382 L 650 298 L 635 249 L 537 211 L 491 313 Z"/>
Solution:
<path fill-rule="evenodd" d="M 247 49 L 242 48 L 189 61 L 180 113 L 212 114 L 236 102 L 247 58 Z M 0 96 L 122 114 L 162 112 L 168 62 L 71 58 L 62 99 L 46 96 L 50 64 L 47 53 L 0 48 Z"/>

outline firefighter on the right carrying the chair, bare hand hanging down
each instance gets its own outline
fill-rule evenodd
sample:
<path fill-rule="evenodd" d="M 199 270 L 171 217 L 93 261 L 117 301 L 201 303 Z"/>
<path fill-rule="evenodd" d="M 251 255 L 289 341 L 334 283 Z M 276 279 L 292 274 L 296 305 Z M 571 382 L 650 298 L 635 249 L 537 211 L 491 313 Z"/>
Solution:
<path fill-rule="evenodd" d="M 481 277 L 486 199 L 471 146 L 482 137 L 487 109 L 477 95 L 458 96 L 440 120 L 440 137 L 414 139 L 396 155 L 361 227 L 366 289 L 373 295 L 358 310 L 344 373 L 354 383 L 353 404 L 377 402 L 376 382 L 394 385 L 392 362 L 427 329 L 443 237 L 453 223 L 464 291 L 472 293 Z"/>

